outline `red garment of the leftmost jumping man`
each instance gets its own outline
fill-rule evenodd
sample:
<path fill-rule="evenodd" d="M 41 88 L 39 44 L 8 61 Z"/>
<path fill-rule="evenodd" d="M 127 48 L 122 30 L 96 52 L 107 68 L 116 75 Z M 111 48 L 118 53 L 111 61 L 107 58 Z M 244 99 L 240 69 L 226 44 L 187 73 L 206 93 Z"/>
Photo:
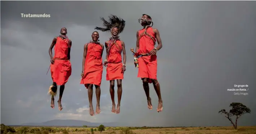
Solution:
<path fill-rule="evenodd" d="M 54 59 L 55 63 L 51 64 L 52 81 L 57 85 L 64 85 L 68 82 L 71 75 L 71 63 L 68 60 L 69 39 L 62 39 L 57 37 L 57 41 L 54 47 Z"/>

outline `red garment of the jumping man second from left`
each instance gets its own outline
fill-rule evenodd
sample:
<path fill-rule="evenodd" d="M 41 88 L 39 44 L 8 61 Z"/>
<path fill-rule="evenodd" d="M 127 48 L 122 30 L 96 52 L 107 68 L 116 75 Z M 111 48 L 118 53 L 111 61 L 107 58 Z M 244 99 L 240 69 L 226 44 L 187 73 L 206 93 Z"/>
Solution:
<path fill-rule="evenodd" d="M 87 44 L 87 54 L 84 63 L 84 76 L 80 84 L 84 84 L 88 89 L 90 84 L 98 85 L 101 84 L 103 63 L 102 54 L 103 45 L 96 43 Z"/>

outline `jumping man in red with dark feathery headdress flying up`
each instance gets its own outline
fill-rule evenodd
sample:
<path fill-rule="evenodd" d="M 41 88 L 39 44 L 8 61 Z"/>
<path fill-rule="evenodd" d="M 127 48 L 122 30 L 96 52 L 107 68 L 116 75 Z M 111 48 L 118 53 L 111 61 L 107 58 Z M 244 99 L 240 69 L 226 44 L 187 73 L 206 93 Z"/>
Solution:
<path fill-rule="evenodd" d="M 118 18 L 115 15 L 109 16 L 109 21 L 105 21 L 104 18 L 101 18 L 104 22 L 103 26 L 105 28 L 95 27 L 97 30 L 101 31 L 110 31 L 112 37 L 105 42 L 105 47 L 107 51 L 106 59 L 104 61 L 104 66 L 107 66 L 107 80 L 110 82 L 110 96 L 112 100 L 112 112 L 120 113 L 120 102 L 122 97 L 122 80 L 123 73 L 125 72 L 125 63 L 126 63 L 126 51 L 125 43 L 119 39 L 119 33 L 125 28 L 125 21 L 121 18 Z M 122 55 L 123 52 L 123 63 Z M 114 100 L 114 82 L 117 80 L 117 96 L 118 103 L 116 109 L 116 103 Z"/>

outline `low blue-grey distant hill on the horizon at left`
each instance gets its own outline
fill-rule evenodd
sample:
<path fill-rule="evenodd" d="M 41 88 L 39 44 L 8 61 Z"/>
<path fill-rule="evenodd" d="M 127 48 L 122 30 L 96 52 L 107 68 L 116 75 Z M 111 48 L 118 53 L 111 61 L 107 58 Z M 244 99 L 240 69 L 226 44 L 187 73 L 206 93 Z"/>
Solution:
<path fill-rule="evenodd" d="M 128 124 L 120 124 L 118 122 L 96 123 L 82 120 L 50 120 L 41 123 L 23 123 L 21 126 L 99 126 L 101 124 L 104 126 L 129 126 Z"/>

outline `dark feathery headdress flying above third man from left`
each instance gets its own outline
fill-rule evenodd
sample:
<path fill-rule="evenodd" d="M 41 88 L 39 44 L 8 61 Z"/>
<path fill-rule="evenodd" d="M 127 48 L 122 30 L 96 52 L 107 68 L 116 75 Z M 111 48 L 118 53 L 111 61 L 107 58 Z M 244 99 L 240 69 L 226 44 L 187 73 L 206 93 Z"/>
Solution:
<path fill-rule="evenodd" d="M 109 17 L 109 22 L 107 22 L 104 18 L 100 18 L 101 21 L 103 21 L 103 26 L 105 28 L 102 27 L 95 27 L 95 30 L 100 30 L 100 31 L 111 31 L 112 28 L 117 27 L 118 28 L 118 34 L 123 32 L 123 29 L 125 28 L 125 21 L 121 18 L 118 18 L 116 15 L 110 15 Z M 112 35 L 113 36 L 113 35 Z"/>

